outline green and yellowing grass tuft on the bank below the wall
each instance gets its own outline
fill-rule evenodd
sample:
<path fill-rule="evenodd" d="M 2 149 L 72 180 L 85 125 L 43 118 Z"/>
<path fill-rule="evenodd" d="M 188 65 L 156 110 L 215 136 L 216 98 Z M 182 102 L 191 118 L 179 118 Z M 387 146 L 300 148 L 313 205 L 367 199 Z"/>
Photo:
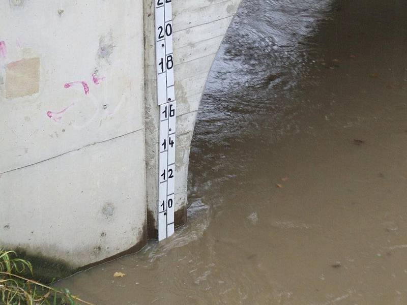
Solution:
<path fill-rule="evenodd" d="M 0 249 L 0 305 L 93 305 L 68 289 L 49 287 L 27 275 L 33 275 L 30 262 L 18 258 L 15 251 Z"/>

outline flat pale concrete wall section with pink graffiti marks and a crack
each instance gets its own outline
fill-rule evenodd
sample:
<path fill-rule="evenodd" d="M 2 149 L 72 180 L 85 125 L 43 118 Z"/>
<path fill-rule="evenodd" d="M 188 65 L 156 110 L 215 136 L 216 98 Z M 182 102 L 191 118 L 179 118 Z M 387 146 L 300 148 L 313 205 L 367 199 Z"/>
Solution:
<path fill-rule="evenodd" d="M 142 3 L 0 2 L 0 245 L 73 267 L 146 240 Z"/>

